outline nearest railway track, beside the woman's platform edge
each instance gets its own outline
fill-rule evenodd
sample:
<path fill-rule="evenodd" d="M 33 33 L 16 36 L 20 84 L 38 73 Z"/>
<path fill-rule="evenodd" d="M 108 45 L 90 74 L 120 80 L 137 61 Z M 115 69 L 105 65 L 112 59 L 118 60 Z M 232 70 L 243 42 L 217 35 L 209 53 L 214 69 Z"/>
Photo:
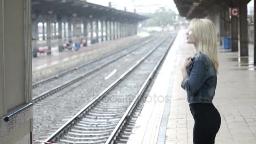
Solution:
<path fill-rule="evenodd" d="M 46 141 L 57 143 L 113 143 L 144 94 L 170 48 L 174 36 L 158 43 Z"/>

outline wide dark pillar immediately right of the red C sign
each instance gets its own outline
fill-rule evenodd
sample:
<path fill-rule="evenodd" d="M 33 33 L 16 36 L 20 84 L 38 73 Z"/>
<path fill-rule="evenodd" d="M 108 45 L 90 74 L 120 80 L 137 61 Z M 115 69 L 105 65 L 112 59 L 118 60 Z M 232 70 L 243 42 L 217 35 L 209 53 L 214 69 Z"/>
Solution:
<path fill-rule="evenodd" d="M 247 1 L 239 0 L 240 56 L 248 56 Z"/>

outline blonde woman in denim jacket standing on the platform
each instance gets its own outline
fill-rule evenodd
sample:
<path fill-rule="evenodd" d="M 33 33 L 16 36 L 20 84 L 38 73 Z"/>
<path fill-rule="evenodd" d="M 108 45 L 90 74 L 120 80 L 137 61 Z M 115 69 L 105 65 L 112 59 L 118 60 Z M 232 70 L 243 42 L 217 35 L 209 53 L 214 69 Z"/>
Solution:
<path fill-rule="evenodd" d="M 195 45 L 196 54 L 182 64 L 181 87 L 187 92 L 190 112 L 195 120 L 194 144 L 214 144 L 221 116 L 213 105 L 218 73 L 215 26 L 209 19 L 192 19 L 187 43 Z"/>

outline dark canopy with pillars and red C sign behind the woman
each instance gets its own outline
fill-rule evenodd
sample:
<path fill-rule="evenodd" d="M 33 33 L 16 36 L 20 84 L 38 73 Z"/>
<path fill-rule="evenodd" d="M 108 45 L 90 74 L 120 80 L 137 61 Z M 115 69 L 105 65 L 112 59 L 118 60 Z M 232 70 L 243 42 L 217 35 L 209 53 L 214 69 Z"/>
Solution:
<path fill-rule="evenodd" d="M 231 51 L 237 52 L 240 46 L 240 56 L 248 56 L 248 17 L 247 4 L 251 0 L 174 0 L 181 16 L 187 19 L 211 19 L 216 26 L 220 44 L 224 36 L 231 37 Z M 255 7 L 254 0 L 254 22 Z M 230 18 L 231 17 L 231 18 Z M 254 29 L 256 25 L 254 24 Z M 239 35 L 238 35 L 239 34 Z M 256 65 L 256 31 L 254 30 L 254 61 Z"/>

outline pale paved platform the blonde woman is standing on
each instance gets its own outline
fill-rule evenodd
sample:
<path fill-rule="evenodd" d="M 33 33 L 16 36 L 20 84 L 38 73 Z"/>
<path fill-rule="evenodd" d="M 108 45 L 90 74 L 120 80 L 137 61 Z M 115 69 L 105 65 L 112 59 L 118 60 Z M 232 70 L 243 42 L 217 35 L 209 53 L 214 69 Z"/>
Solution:
<path fill-rule="evenodd" d="M 128 144 L 193 144 L 194 119 L 181 88 L 181 64 L 193 56 L 179 31 L 136 120 Z M 219 46 L 219 75 L 213 104 L 221 115 L 215 144 L 256 144 L 256 67 L 253 46 L 239 57 Z"/>

